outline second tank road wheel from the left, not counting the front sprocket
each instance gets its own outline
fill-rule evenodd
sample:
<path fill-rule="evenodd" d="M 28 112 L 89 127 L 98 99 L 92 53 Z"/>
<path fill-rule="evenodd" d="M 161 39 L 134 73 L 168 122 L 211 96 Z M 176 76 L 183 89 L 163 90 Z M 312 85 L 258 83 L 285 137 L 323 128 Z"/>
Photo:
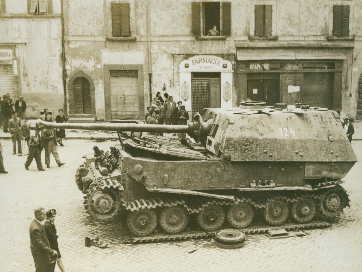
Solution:
<path fill-rule="evenodd" d="M 165 207 L 160 214 L 161 228 L 171 234 L 183 231 L 189 222 L 189 214 L 180 205 Z"/>

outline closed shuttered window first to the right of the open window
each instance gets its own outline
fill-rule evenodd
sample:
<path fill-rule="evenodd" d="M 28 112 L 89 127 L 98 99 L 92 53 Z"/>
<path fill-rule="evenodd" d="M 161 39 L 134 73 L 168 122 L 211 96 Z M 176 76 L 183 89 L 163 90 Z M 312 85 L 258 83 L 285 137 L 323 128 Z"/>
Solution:
<path fill-rule="evenodd" d="M 255 5 L 255 31 L 258 37 L 271 36 L 271 5 Z"/>

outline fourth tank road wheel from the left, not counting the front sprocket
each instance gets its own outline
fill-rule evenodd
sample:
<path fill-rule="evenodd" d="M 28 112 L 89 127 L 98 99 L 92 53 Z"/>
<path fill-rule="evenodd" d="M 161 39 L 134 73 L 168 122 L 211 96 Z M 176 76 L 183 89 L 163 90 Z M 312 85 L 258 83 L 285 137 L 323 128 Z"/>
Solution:
<path fill-rule="evenodd" d="M 227 211 L 227 221 L 234 228 L 244 228 L 251 224 L 254 218 L 254 209 L 250 203 L 238 203 L 230 206 Z"/>

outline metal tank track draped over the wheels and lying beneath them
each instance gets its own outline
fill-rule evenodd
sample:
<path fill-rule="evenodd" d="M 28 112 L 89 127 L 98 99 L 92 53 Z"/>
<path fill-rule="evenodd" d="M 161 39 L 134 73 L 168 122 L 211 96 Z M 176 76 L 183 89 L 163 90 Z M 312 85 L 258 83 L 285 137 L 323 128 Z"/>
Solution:
<path fill-rule="evenodd" d="M 95 192 L 97 190 L 104 190 L 104 189 L 116 189 L 119 191 L 119 204 L 122 206 L 126 211 L 133 212 L 133 211 L 139 211 L 142 209 L 161 209 L 164 207 L 174 207 L 177 205 L 180 205 L 184 207 L 189 215 L 191 214 L 197 214 L 200 211 L 203 211 L 206 207 L 210 205 L 218 205 L 218 206 L 230 206 L 235 205 L 238 203 L 250 203 L 254 210 L 260 210 L 262 208 L 268 207 L 268 203 L 270 201 L 277 201 L 277 200 L 284 200 L 289 205 L 291 203 L 296 202 L 303 198 L 312 198 L 314 199 L 316 203 L 316 213 L 325 215 L 327 217 L 331 217 L 331 212 L 328 211 L 328 205 L 327 207 L 324 207 L 323 205 L 323 199 L 327 195 L 332 195 L 332 201 L 333 201 L 333 193 L 338 191 L 341 195 L 342 203 L 341 203 L 341 209 L 340 211 L 346 207 L 349 206 L 349 198 L 346 191 L 336 182 L 326 182 L 325 184 L 319 184 L 316 186 L 317 189 L 314 191 L 302 191 L 302 192 L 296 192 L 293 191 L 292 194 L 283 193 L 285 191 L 281 192 L 273 192 L 273 195 L 270 196 L 270 198 L 264 198 L 260 199 L 257 197 L 250 197 L 248 195 L 241 196 L 239 194 L 237 197 L 235 197 L 236 201 L 228 201 L 228 200 L 220 200 L 220 199 L 212 199 L 208 198 L 205 199 L 203 202 L 195 203 L 193 201 L 190 201 L 190 199 L 186 197 L 183 197 L 182 195 L 162 195 L 162 197 L 157 196 L 150 199 L 138 199 L 132 202 L 126 202 L 122 198 L 122 192 L 123 187 L 121 184 L 119 184 L 115 180 L 102 180 L 97 181 L 90 186 L 89 190 L 87 191 L 87 195 L 84 197 L 85 201 L 85 208 L 87 209 L 87 199 L 90 197 L 92 192 Z M 268 193 L 267 193 L 268 194 Z M 339 211 L 338 211 L 339 214 Z M 157 216 L 158 217 L 158 216 Z M 107 219 L 107 218 L 106 218 Z M 158 219 L 157 219 L 158 221 Z M 286 230 L 297 230 L 297 229 L 306 229 L 306 228 L 316 228 L 316 227 L 328 227 L 330 226 L 327 222 L 321 222 L 317 221 L 317 219 L 313 219 L 309 223 L 283 223 L 280 226 L 258 226 L 258 227 L 246 227 L 241 228 L 245 233 L 248 234 L 256 234 L 256 233 L 264 233 L 268 230 L 275 230 L 275 229 L 286 229 Z M 222 227 L 223 228 L 223 227 Z M 172 241 L 172 240 L 184 240 L 184 239 L 198 239 L 198 238 L 210 238 L 214 237 L 215 231 L 203 231 L 199 230 L 198 227 L 195 231 L 190 231 L 189 228 L 185 228 L 183 232 L 180 232 L 178 234 L 159 234 L 158 231 L 159 228 L 157 228 L 154 232 L 152 232 L 151 235 L 147 236 L 134 236 L 131 234 L 131 232 L 128 230 L 128 235 L 126 234 L 124 236 L 124 239 L 122 239 L 122 242 L 124 243 L 142 243 L 142 242 L 156 242 L 156 241 Z"/>

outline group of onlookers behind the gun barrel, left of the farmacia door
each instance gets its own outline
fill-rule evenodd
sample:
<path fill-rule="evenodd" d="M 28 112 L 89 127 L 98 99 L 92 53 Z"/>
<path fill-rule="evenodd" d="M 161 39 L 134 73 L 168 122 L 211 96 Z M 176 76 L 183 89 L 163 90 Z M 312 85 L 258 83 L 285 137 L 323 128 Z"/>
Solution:
<path fill-rule="evenodd" d="M 153 102 L 147 107 L 146 115 L 144 116 L 147 124 L 166 124 L 166 125 L 187 125 L 189 114 L 182 105 L 182 101 L 173 101 L 173 96 L 164 93 L 164 98 L 160 92 L 157 92 Z M 151 135 L 163 136 L 163 132 L 151 132 Z M 176 133 L 173 134 L 176 136 Z M 186 133 L 178 133 L 178 139 L 185 139 Z"/>

